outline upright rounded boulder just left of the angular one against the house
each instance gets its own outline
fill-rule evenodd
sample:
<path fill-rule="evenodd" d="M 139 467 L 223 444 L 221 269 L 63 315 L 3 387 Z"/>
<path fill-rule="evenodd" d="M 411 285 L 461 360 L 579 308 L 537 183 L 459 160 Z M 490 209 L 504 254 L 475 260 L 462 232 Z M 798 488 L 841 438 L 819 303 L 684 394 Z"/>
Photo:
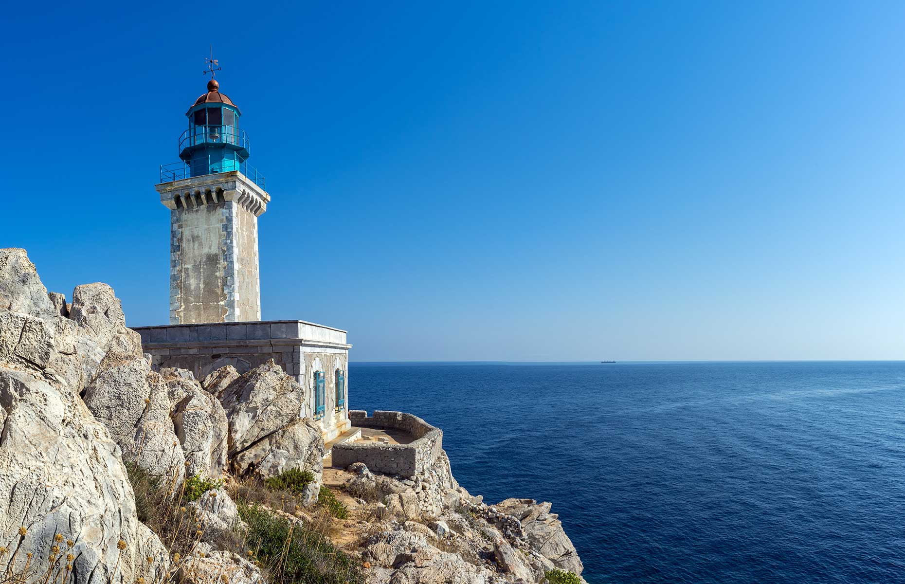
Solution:
<path fill-rule="evenodd" d="M 185 389 L 185 396 L 176 403 L 171 417 L 186 455 L 186 473 L 219 477 L 226 470 L 229 431 L 224 407 L 200 387 L 180 388 Z"/>

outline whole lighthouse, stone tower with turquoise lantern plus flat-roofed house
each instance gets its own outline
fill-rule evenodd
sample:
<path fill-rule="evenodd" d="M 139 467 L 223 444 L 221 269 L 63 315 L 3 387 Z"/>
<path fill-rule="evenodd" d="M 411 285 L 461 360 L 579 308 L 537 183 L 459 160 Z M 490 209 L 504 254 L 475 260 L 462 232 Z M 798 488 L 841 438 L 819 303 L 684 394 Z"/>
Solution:
<path fill-rule="evenodd" d="M 181 160 L 160 168 L 156 186 L 170 211 L 169 324 L 135 330 L 153 365 L 189 369 L 196 378 L 274 359 L 310 397 L 300 416 L 319 420 L 331 440 L 351 427 L 351 345 L 345 330 L 261 320 L 258 217 L 271 196 L 248 166 L 242 111 L 219 89 L 212 79 L 186 112 Z"/>

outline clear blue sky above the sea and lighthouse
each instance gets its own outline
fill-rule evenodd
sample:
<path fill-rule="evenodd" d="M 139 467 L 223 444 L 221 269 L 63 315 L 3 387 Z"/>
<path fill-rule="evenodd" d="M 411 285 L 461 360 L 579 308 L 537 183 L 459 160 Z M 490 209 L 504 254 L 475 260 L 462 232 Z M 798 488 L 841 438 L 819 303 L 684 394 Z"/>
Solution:
<path fill-rule="evenodd" d="M 905 357 L 905 4 L 13 3 L 0 246 L 163 324 L 221 89 L 262 318 L 353 360 Z"/>

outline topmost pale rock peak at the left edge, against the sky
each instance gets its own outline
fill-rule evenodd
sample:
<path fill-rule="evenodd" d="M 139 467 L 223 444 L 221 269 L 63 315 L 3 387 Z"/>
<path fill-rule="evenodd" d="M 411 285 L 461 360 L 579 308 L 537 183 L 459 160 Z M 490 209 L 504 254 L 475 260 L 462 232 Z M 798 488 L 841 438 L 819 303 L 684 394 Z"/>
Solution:
<path fill-rule="evenodd" d="M 21 312 L 38 318 L 49 318 L 54 314 L 47 289 L 24 249 L 0 249 L 0 311 Z"/>

